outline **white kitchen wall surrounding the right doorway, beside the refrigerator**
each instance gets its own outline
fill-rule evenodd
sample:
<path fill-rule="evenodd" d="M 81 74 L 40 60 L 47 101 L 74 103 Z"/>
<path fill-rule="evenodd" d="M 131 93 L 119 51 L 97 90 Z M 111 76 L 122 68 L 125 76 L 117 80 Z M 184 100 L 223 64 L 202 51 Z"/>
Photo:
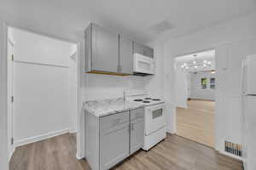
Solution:
<path fill-rule="evenodd" d="M 241 101 L 238 95 L 241 62 L 233 62 L 233 59 L 241 61 L 241 58 L 246 54 L 253 53 L 253 49 L 256 49 L 253 48 L 252 42 L 245 41 L 256 37 L 255 19 L 255 13 L 249 14 L 189 36 L 165 42 L 165 97 L 169 102 L 168 113 L 171 114 L 172 120 L 168 126 L 172 133 L 176 132 L 173 97 L 175 96 L 175 83 L 173 82 L 174 69 L 172 67 L 174 57 L 215 48 L 218 87 L 216 90 L 216 148 L 224 152 L 224 139 L 241 142 L 241 131 L 239 130 L 241 127 Z M 241 42 L 242 40 L 244 42 Z M 236 45 L 235 42 L 240 43 Z M 234 107 L 230 107 L 232 105 Z"/>

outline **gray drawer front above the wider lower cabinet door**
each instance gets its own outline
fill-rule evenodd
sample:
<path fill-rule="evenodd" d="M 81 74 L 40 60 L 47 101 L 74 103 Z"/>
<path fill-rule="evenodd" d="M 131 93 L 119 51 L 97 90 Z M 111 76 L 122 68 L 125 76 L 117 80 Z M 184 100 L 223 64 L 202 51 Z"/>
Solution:
<path fill-rule="evenodd" d="M 125 122 L 129 122 L 129 111 L 103 116 L 100 118 L 101 130 L 111 127 L 117 127 Z"/>

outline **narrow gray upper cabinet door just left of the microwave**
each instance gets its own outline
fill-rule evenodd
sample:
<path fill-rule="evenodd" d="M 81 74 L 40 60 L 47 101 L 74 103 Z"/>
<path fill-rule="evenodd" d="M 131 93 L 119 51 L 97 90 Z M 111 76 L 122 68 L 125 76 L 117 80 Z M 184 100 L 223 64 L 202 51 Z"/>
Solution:
<path fill-rule="evenodd" d="M 121 73 L 132 74 L 132 54 L 132 41 L 119 35 L 119 71 Z"/>

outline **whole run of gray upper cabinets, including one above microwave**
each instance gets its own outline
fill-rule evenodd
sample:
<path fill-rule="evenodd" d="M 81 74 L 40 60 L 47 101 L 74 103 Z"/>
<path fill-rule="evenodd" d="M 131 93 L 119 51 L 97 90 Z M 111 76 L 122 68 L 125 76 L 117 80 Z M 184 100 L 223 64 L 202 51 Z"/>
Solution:
<path fill-rule="evenodd" d="M 94 23 L 84 31 L 85 72 L 132 75 L 134 53 L 154 57 L 152 48 Z"/>

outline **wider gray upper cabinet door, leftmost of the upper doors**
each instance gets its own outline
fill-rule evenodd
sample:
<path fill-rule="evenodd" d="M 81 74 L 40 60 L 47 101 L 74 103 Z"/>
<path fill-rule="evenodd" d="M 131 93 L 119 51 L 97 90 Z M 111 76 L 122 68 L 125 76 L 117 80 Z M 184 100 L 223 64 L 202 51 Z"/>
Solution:
<path fill-rule="evenodd" d="M 119 34 L 92 24 L 91 45 L 92 70 L 117 72 L 119 65 Z"/>

